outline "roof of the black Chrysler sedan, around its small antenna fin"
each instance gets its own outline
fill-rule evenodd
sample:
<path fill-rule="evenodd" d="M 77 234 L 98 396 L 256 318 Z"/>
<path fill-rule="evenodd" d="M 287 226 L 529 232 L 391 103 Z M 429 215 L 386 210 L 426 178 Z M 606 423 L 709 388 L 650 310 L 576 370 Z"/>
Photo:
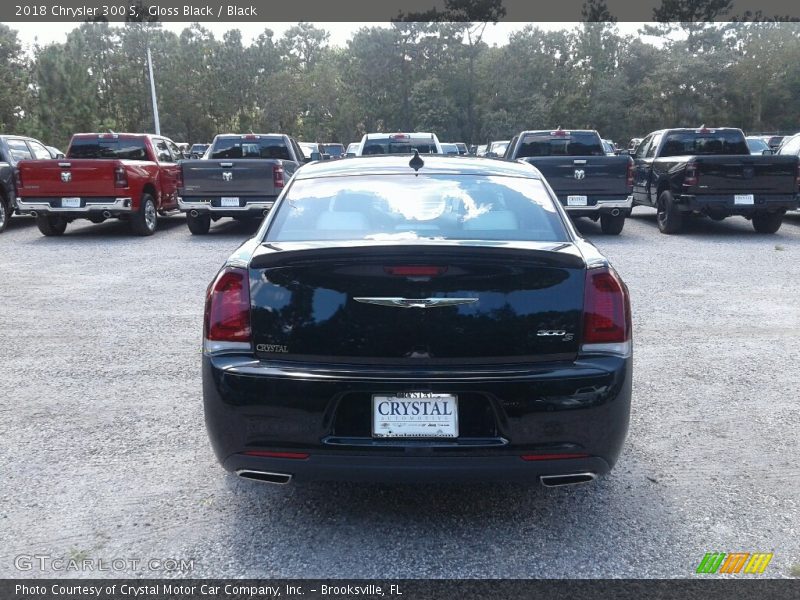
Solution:
<path fill-rule="evenodd" d="M 413 174 L 409 165 L 410 154 L 376 154 L 354 157 L 346 161 L 321 161 L 309 163 L 297 171 L 296 179 L 317 177 L 343 177 L 363 175 Z M 420 174 L 496 175 L 541 179 L 541 173 L 525 162 L 490 160 L 472 156 L 443 156 L 424 154 Z"/>

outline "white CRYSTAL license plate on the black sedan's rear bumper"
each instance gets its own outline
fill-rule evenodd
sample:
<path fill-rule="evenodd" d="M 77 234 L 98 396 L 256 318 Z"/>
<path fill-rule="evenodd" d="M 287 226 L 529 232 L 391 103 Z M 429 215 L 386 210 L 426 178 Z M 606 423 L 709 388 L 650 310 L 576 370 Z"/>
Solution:
<path fill-rule="evenodd" d="M 458 437 L 458 398 L 408 392 L 372 396 L 372 435 L 380 438 Z"/>

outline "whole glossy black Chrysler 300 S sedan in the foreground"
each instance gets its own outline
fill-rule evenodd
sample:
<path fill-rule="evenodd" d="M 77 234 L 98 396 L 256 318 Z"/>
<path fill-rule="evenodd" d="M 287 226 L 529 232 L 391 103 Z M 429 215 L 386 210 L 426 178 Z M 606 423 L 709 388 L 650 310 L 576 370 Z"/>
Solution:
<path fill-rule="evenodd" d="M 206 425 L 270 483 L 592 481 L 631 402 L 628 291 L 539 172 L 299 169 L 208 288 Z"/>

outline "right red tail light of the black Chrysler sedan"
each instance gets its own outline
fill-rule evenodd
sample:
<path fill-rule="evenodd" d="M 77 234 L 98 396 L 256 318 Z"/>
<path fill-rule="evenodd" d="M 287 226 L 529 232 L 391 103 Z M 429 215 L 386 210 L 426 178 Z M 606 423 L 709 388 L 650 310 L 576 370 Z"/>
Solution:
<path fill-rule="evenodd" d="M 630 353 L 630 297 L 613 269 L 586 271 L 583 311 L 584 352 Z"/>

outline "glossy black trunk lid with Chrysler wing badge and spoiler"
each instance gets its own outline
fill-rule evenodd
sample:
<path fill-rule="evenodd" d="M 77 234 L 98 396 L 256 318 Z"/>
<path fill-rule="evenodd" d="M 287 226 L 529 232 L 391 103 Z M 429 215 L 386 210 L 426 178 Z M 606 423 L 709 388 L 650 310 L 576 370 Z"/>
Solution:
<path fill-rule="evenodd" d="M 571 359 L 584 275 L 571 244 L 265 246 L 250 265 L 254 348 L 374 364 Z"/>

